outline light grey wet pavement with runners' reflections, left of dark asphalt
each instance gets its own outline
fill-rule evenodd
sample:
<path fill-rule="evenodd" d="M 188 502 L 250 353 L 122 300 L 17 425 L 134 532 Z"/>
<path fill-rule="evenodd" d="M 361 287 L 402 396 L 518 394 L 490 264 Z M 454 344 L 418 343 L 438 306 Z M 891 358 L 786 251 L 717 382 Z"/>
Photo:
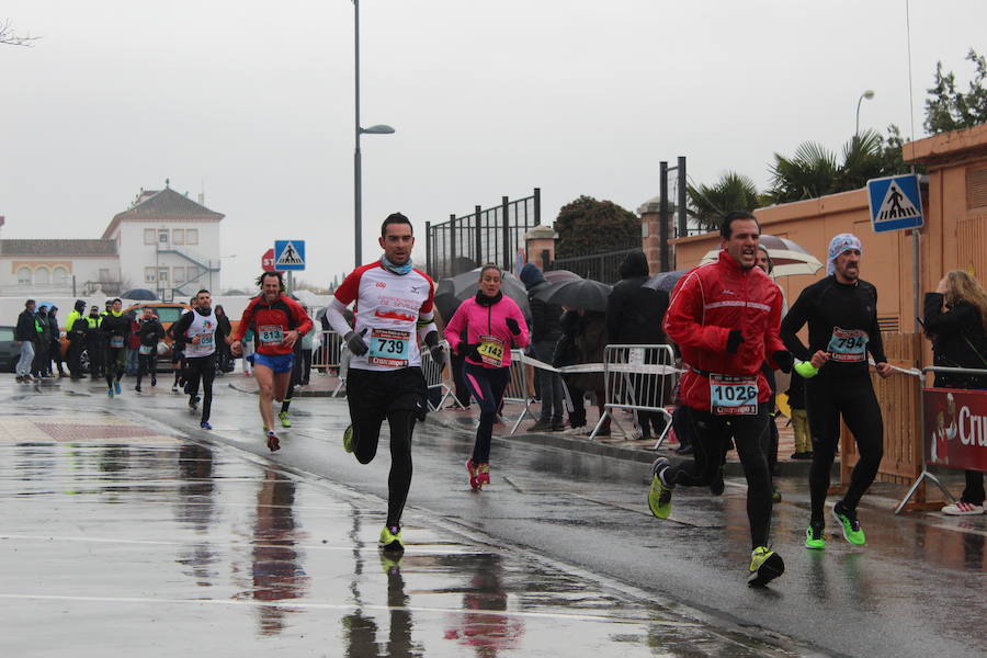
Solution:
<path fill-rule="evenodd" d="M 353 490 L 73 421 L 0 441 L 5 656 L 785 655 L 413 515 L 390 559 Z"/>

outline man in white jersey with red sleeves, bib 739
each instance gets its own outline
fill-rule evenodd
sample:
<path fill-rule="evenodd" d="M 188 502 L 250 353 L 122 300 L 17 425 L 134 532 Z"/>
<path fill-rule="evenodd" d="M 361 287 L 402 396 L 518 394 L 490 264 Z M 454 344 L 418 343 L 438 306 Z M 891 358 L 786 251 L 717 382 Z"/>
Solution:
<path fill-rule="evenodd" d="M 390 427 L 387 522 L 381 547 L 404 551 L 400 521 L 411 486 L 411 433 L 415 421 L 424 420 L 428 404 L 419 338 L 438 363 L 444 354 L 432 319 L 434 285 L 411 264 L 411 222 L 400 213 L 388 216 L 379 243 L 384 256 L 347 276 L 326 317 L 353 353 L 347 375 L 352 424 L 343 434 L 343 447 L 367 464 L 377 453 L 385 418 Z M 353 302 L 355 325 L 350 329 L 343 310 Z"/>

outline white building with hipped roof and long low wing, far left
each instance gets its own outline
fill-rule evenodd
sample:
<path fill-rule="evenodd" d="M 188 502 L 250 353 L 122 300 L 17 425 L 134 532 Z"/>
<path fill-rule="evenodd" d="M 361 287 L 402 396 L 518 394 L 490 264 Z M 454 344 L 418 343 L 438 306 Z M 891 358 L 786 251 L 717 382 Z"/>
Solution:
<path fill-rule="evenodd" d="M 167 186 L 141 190 L 99 240 L 0 240 L 0 295 L 120 295 L 147 288 L 160 299 L 220 291 L 224 215 Z"/>

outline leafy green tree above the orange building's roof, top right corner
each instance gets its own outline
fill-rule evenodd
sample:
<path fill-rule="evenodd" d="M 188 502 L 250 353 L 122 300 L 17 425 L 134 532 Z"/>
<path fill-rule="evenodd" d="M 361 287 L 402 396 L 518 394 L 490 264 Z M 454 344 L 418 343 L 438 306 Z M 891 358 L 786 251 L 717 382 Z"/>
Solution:
<path fill-rule="evenodd" d="M 974 65 L 974 79 L 967 93 L 956 91 L 953 71 L 944 73 L 942 63 L 935 64 L 934 83 L 927 90 L 930 98 L 926 100 L 926 122 L 922 124 L 930 135 L 987 123 L 987 89 L 984 89 L 987 60 L 973 48 L 966 59 Z"/>

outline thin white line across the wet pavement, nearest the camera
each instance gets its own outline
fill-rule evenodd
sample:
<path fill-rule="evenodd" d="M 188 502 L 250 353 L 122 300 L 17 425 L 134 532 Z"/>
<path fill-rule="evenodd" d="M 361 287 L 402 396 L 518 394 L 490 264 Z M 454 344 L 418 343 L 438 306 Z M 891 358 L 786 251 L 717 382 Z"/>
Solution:
<path fill-rule="evenodd" d="M 3 594 L 0 599 L 9 600 L 39 600 L 39 601 L 72 601 L 72 602 L 100 602 L 100 603 L 164 603 L 164 604 L 193 604 L 193 605 L 226 605 L 226 606 L 247 606 L 247 608 L 287 608 L 287 609 L 308 609 L 308 610 L 373 610 L 377 612 L 408 612 L 408 613 L 440 613 L 440 614 L 464 614 L 464 615 L 500 615 L 526 619 L 543 620 L 570 620 L 578 622 L 603 622 L 608 624 L 648 624 L 658 626 L 672 626 L 677 628 L 702 628 L 701 624 L 694 622 L 674 622 L 659 621 L 650 617 L 621 617 L 605 616 L 592 614 L 563 614 L 556 612 L 531 612 L 520 610 L 486 610 L 469 609 L 463 610 L 458 608 L 431 608 L 431 606 L 412 606 L 412 605 L 371 605 L 371 604 L 353 604 L 353 603 L 318 603 L 318 602 L 299 602 L 299 601 L 245 601 L 238 599 L 154 599 L 150 597 L 78 597 L 78 595 L 59 595 L 59 594 Z"/>

